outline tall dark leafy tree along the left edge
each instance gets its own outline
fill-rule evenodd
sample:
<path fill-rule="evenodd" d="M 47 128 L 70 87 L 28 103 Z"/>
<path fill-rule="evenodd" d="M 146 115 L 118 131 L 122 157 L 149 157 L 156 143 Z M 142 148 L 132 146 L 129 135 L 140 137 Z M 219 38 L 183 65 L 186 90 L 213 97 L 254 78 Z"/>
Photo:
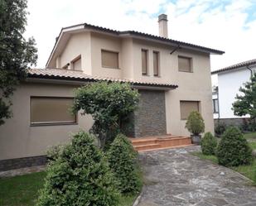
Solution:
<path fill-rule="evenodd" d="M 35 40 L 22 35 L 27 25 L 27 0 L 0 1 L 0 125 L 12 117 L 11 96 L 36 65 Z"/>

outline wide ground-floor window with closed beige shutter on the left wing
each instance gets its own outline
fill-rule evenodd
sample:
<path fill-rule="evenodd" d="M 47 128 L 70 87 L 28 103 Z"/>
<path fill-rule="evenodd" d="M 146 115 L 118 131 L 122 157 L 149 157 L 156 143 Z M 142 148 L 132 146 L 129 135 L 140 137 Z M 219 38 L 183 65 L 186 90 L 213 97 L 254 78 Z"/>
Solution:
<path fill-rule="evenodd" d="M 31 97 L 31 125 L 74 124 L 70 113 L 74 98 Z"/>

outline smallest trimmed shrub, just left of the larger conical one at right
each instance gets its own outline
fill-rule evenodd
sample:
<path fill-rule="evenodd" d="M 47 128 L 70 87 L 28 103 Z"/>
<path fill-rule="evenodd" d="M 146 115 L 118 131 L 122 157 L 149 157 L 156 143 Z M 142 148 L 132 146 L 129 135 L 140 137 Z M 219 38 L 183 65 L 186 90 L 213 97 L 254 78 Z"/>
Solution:
<path fill-rule="evenodd" d="M 215 155 L 218 141 L 210 132 L 205 133 L 204 138 L 200 141 L 202 153 L 206 156 Z"/>

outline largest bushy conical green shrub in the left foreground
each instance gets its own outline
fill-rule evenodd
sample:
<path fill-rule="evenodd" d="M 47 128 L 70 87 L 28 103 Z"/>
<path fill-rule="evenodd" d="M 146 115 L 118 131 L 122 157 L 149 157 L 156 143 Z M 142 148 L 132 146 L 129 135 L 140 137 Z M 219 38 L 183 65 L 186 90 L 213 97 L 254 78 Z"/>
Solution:
<path fill-rule="evenodd" d="M 37 206 L 118 204 L 114 176 L 93 138 L 78 132 L 69 145 L 53 152 Z"/>

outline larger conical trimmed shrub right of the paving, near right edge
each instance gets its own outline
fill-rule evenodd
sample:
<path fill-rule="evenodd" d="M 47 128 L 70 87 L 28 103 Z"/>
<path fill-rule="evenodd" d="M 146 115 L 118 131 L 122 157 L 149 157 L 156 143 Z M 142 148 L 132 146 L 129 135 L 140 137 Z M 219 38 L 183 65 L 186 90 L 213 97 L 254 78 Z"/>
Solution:
<path fill-rule="evenodd" d="M 248 165 L 252 160 L 252 149 L 237 127 L 229 127 L 217 147 L 220 165 Z"/>

